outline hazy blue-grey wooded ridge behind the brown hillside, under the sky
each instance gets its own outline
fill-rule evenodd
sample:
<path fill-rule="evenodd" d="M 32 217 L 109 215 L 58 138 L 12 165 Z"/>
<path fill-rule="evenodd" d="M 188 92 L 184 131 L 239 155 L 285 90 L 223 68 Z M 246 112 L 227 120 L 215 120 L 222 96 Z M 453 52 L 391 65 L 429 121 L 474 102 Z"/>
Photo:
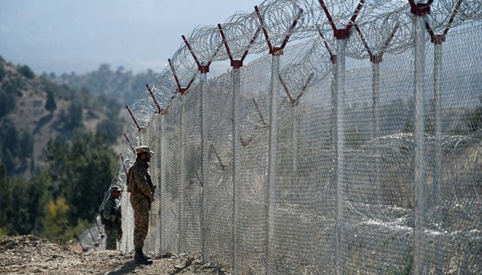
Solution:
<path fill-rule="evenodd" d="M 123 105 L 136 102 L 146 91 L 145 85 L 151 85 L 156 76 L 157 74 L 151 69 L 140 74 L 132 74 L 132 71 L 126 71 L 122 66 L 114 71 L 107 64 L 101 65 L 96 71 L 82 75 L 43 74 L 43 77 L 59 85 L 65 84 L 74 89 L 88 89 L 94 96 L 105 95 Z"/>

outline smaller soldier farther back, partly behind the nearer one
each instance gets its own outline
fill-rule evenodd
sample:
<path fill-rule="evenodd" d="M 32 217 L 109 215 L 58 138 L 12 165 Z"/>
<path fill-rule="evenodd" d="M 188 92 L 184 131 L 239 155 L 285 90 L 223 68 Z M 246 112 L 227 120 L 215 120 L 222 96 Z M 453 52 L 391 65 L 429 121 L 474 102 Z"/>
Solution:
<path fill-rule="evenodd" d="M 110 188 L 110 197 L 101 206 L 101 221 L 104 225 L 105 234 L 105 250 L 116 250 L 118 236 L 122 234 L 121 230 L 121 206 L 117 199 L 122 195 L 121 188 L 112 186 Z"/>

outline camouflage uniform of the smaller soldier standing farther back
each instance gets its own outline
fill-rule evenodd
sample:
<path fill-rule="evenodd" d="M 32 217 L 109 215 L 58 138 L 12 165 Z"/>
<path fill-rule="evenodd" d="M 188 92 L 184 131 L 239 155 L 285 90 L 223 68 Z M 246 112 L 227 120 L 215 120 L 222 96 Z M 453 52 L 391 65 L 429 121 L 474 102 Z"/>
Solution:
<path fill-rule="evenodd" d="M 121 217 L 121 207 L 116 203 L 116 199 L 109 197 L 103 204 L 101 214 L 101 221 L 104 225 L 105 234 L 107 235 L 105 250 L 116 250 L 118 230 L 121 228 L 121 224 L 117 223 L 117 217 Z"/>

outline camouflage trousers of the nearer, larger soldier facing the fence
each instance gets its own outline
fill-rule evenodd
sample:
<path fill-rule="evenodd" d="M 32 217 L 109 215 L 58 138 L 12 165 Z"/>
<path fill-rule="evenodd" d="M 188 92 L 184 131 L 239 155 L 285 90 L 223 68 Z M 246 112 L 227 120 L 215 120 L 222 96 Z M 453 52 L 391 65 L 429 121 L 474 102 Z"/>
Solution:
<path fill-rule="evenodd" d="M 134 248 L 143 248 L 149 229 L 149 199 L 140 194 L 131 194 L 132 210 L 134 210 Z"/>

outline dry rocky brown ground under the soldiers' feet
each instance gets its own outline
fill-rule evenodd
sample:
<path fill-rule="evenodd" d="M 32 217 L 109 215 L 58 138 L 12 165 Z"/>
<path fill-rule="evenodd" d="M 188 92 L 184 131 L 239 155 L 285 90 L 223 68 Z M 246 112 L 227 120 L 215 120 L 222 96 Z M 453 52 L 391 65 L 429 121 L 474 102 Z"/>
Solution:
<path fill-rule="evenodd" d="M 57 245 L 32 235 L 0 237 L 0 274 L 231 274 L 230 270 L 202 263 L 200 252 L 151 258 L 152 265 L 136 265 L 134 252 L 85 254 L 75 245 Z"/>

